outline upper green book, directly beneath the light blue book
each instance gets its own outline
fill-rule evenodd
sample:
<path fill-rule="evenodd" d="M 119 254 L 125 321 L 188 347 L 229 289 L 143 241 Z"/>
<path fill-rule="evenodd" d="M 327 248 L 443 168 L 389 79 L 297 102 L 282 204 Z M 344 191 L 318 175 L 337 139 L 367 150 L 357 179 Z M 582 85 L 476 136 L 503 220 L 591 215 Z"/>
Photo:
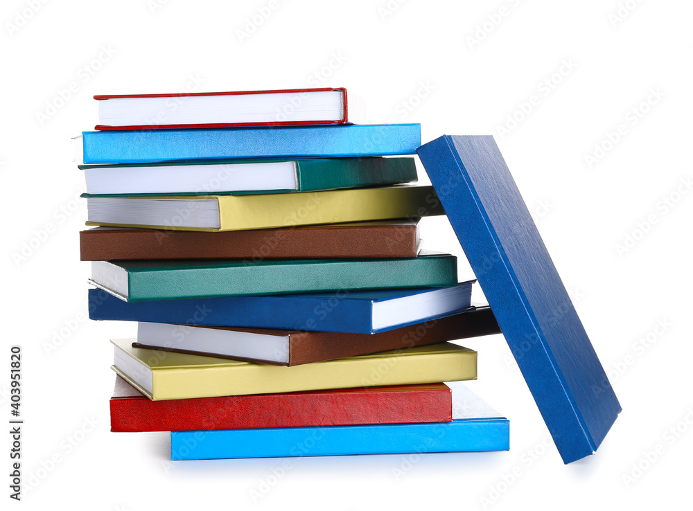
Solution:
<path fill-rule="evenodd" d="M 78 165 L 91 195 L 312 192 L 416 181 L 413 158 L 176 161 Z"/>

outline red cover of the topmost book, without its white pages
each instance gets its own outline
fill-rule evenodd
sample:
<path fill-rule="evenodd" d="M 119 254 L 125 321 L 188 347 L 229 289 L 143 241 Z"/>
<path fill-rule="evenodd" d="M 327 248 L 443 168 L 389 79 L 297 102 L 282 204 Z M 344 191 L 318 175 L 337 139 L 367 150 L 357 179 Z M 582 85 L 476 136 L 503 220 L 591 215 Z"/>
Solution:
<path fill-rule="evenodd" d="M 253 122 L 253 123 L 194 123 L 194 124 L 170 124 L 161 123 L 113 126 L 98 124 L 94 127 L 99 131 L 108 129 L 191 129 L 191 128 L 218 128 L 218 127 L 258 127 L 258 126 L 290 126 L 290 125 L 318 125 L 318 124 L 346 124 L 349 123 L 349 113 L 347 107 L 347 89 L 344 87 L 322 87 L 317 89 L 277 89 L 269 91 L 225 91 L 225 92 L 193 92 L 193 93 L 173 93 L 173 94 L 102 94 L 94 96 L 95 100 L 103 101 L 109 99 L 134 99 L 134 98 L 186 98 L 195 96 L 243 96 L 250 94 L 275 94 L 292 93 L 305 94 L 311 92 L 340 91 L 342 93 L 342 116 L 332 120 L 274 120 L 272 122 Z"/>

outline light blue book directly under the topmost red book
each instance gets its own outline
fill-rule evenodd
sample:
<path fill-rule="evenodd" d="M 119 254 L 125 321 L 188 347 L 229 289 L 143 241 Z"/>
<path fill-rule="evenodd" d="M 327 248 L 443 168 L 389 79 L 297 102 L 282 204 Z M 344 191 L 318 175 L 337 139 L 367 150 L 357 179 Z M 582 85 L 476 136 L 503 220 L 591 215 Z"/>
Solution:
<path fill-rule="evenodd" d="M 330 125 L 83 132 L 84 163 L 414 154 L 421 125 Z"/>

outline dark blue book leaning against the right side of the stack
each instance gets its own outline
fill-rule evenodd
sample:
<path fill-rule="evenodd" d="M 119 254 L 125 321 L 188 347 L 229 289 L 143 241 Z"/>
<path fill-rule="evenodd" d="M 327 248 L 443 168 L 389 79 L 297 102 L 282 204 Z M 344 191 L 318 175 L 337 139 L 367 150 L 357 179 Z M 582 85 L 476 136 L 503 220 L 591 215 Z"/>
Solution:
<path fill-rule="evenodd" d="M 416 152 L 563 461 L 593 454 L 621 406 L 493 136 Z"/>

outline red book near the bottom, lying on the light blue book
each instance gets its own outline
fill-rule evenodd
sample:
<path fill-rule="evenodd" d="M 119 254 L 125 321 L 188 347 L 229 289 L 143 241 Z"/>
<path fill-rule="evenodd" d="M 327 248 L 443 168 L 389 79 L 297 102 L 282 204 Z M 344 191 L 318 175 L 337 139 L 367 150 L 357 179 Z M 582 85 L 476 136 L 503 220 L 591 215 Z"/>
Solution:
<path fill-rule="evenodd" d="M 452 420 L 450 388 L 419 384 L 152 401 L 116 375 L 111 431 L 190 431 Z"/>

